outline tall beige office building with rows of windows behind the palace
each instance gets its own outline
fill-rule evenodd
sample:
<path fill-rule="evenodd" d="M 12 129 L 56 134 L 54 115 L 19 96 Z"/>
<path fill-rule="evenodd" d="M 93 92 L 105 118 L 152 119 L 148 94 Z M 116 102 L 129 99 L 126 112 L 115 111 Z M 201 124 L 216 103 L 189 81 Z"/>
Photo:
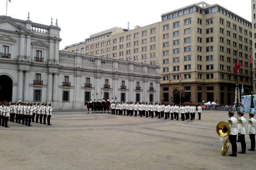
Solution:
<path fill-rule="evenodd" d="M 236 54 L 239 87 L 250 88 L 251 39 L 251 22 L 218 4 L 200 2 L 162 14 L 158 23 L 93 34 L 63 51 L 160 65 L 165 102 L 179 103 L 181 92 L 181 102 L 232 104 Z"/>

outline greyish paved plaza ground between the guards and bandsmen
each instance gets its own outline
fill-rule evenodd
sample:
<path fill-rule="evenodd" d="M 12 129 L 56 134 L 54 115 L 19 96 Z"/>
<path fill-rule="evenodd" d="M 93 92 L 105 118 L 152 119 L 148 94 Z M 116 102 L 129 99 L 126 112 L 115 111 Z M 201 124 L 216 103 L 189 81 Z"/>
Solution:
<path fill-rule="evenodd" d="M 228 112 L 221 111 L 177 121 L 55 110 L 52 126 L 8 122 L 10 128 L 0 127 L 0 169 L 255 170 L 256 151 L 230 157 L 230 146 L 221 155 L 216 125 L 227 120 Z M 248 135 L 246 143 L 249 148 Z"/>

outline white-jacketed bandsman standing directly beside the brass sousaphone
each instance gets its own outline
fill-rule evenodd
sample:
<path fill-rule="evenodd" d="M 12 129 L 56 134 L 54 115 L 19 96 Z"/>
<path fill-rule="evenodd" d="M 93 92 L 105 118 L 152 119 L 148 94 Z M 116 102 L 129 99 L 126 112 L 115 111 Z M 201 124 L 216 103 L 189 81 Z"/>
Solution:
<path fill-rule="evenodd" d="M 192 119 L 193 119 L 193 117 L 192 117 Z M 234 117 L 234 112 L 229 111 L 228 124 L 229 124 L 229 127 L 230 127 L 229 141 L 230 141 L 231 146 L 232 146 L 232 153 L 229 154 L 229 156 L 236 156 L 236 152 L 237 152 L 237 146 L 236 146 L 237 119 Z"/>

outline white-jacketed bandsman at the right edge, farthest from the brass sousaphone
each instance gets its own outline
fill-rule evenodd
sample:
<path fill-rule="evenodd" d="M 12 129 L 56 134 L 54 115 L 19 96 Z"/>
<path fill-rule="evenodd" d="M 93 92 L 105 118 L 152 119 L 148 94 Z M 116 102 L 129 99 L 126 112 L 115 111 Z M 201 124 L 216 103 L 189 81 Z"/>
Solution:
<path fill-rule="evenodd" d="M 249 113 L 249 120 L 248 120 L 248 133 L 251 140 L 251 148 L 248 149 L 249 151 L 255 151 L 255 127 L 256 127 L 256 120 L 254 118 L 254 113 Z"/>

